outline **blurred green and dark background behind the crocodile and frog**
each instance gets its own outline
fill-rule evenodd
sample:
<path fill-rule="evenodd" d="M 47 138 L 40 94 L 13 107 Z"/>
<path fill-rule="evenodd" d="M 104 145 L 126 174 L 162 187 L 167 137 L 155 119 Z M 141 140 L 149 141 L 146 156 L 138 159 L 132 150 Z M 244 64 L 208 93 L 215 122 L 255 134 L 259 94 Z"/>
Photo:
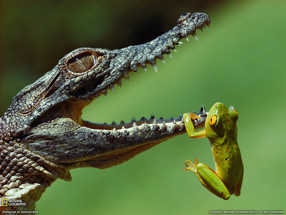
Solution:
<path fill-rule="evenodd" d="M 1 1 L 1 116 L 23 87 L 78 47 L 117 49 L 170 30 L 185 12 L 205 12 L 197 31 L 84 109 L 94 122 L 177 116 L 215 102 L 239 112 L 244 161 L 241 195 L 224 201 L 207 191 L 184 161 L 215 168 L 207 139 L 187 134 L 119 166 L 71 170 L 36 204 L 38 214 L 209 214 L 210 210 L 285 210 L 285 1 Z"/>

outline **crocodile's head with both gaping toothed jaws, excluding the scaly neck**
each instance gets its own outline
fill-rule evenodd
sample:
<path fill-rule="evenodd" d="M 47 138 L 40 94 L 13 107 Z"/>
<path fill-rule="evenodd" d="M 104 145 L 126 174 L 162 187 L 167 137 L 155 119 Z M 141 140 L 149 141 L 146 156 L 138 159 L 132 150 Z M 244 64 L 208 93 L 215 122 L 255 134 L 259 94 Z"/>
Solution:
<path fill-rule="evenodd" d="M 100 48 L 79 48 L 64 56 L 58 65 L 16 97 L 22 114 L 34 104 L 31 91 L 39 101 L 33 114 L 24 120 L 21 140 L 33 153 L 55 163 L 73 163 L 69 169 L 79 166 L 108 168 L 118 165 L 139 153 L 177 135 L 186 132 L 182 115 L 168 119 L 142 117 L 130 122 L 100 124 L 81 120 L 85 106 L 99 96 L 121 87 L 123 78 L 139 67 L 146 71 L 151 64 L 157 72 L 156 60 L 165 63 L 164 54 L 172 57 L 181 39 L 188 41 L 196 30 L 209 25 L 203 13 L 186 13 L 179 17 L 178 25 L 165 34 L 142 45 L 129 46 L 113 51 Z M 45 86 L 48 86 L 47 88 Z M 31 88 L 31 89 L 30 89 Z M 43 96 L 44 95 L 44 96 Z M 43 98 L 43 99 L 42 99 Z M 25 106 L 21 105 L 25 104 Z M 204 107 L 193 114 L 194 128 L 205 125 L 207 113 Z M 79 162 L 80 161 L 80 162 Z"/>

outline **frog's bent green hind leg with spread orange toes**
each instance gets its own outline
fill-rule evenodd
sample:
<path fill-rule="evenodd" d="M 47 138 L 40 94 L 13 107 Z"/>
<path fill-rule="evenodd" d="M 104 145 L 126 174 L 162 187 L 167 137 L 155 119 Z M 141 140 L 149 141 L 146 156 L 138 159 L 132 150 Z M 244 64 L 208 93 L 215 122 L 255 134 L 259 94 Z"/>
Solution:
<path fill-rule="evenodd" d="M 190 160 L 187 160 L 185 162 L 186 168 L 184 168 L 183 170 L 193 171 L 194 173 L 196 173 L 198 179 L 200 180 L 200 183 L 202 183 L 202 185 L 210 192 L 222 199 L 229 199 L 229 191 L 227 190 L 220 177 L 216 174 L 216 172 L 205 164 L 198 163 L 198 160 L 196 158 L 194 159 L 194 161 L 195 163 L 192 163 Z M 188 166 L 187 163 L 190 163 L 190 166 Z"/>

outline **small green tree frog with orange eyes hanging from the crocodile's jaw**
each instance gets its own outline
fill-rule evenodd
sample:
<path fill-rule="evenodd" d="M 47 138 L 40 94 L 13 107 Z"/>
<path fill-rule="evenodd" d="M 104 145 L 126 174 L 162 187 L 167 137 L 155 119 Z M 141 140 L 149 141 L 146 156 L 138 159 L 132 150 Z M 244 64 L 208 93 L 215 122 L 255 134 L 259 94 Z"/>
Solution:
<path fill-rule="evenodd" d="M 210 109 L 205 121 L 205 129 L 196 132 L 192 119 L 193 113 L 185 113 L 185 127 L 189 137 L 207 137 L 211 144 L 216 171 L 203 163 L 190 160 L 185 162 L 187 168 L 196 173 L 202 185 L 222 199 L 229 199 L 231 194 L 239 196 L 243 178 L 243 164 L 237 144 L 238 113 L 232 108 L 227 109 L 222 103 L 216 103 Z M 190 163 L 188 166 L 187 163 Z"/>

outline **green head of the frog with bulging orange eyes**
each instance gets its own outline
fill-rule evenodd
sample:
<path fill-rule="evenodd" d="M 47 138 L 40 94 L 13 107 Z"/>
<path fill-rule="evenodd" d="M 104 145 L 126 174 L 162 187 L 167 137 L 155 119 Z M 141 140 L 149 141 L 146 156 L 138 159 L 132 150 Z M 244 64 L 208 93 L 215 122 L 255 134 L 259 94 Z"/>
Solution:
<path fill-rule="evenodd" d="M 238 113 L 233 107 L 229 109 L 222 103 L 214 104 L 205 121 L 206 135 L 210 139 L 214 138 L 236 138 L 236 121 Z"/>

